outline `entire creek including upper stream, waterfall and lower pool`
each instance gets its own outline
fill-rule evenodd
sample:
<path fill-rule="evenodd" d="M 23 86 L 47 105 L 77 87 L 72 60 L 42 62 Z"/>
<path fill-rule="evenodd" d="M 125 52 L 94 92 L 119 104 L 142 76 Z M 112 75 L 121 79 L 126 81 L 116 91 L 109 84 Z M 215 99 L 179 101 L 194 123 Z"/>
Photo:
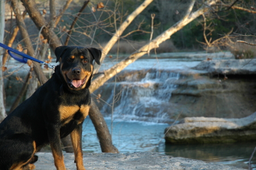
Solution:
<path fill-rule="evenodd" d="M 184 74 L 204 73 L 191 69 L 200 61 L 209 59 L 232 59 L 230 53 L 173 53 L 156 57 L 142 57 L 130 64 L 117 78 L 112 78 L 94 92 L 109 130 L 113 129 L 113 144 L 119 152 L 155 151 L 166 155 L 187 157 L 216 164 L 248 168 L 248 161 L 255 143 L 238 144 L 166 144 L 164 129 L 179 122 L 171 102 L 172 92 L 177 88 L 174 82 L 184 78 Z M 107 59 L 100 71 L 112 67 L 113 59 Z M 115 91 L 114 91 L 115 89 Z M 100 94 L 100 97 L 98 97 Z M 113 96 L 114 105 L 113 103 Z M 182 107 L 182 106 L 181 106 Z M 113 125 L 111 117 L 113 110 Z M 191 110 L 189 110 L 191 111 Z M 177 111 L 176 111 L 177 112 Z M 193 110 L 191 111 L 193 112 Z M 253 113 L 253 112 L 251 112 Z M 208 116 L 207 114 L 196 116 Z M 225 115 L 233 117 L 232 114 Z M 237 115 L 244 117 L 243 115 Z M 85 119 L 83 131 L 83 151 L 101 152 L 97 135 L 89 118 Z M 256 159 L 251 161 L 256 169 Z"/>

